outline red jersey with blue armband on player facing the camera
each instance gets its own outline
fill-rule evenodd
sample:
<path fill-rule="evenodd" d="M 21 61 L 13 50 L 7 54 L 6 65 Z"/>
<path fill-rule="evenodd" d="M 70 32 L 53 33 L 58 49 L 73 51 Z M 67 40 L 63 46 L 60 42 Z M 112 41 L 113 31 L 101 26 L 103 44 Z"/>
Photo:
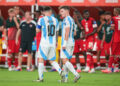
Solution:
<path fill-rule="evenodd" d="M 88 20 L 83 19 L 81 21 L 81 24 L 82 24 L 83 28 L 85 29 L 85 34 L 89 34 L 89 33 L 93 32 L 94 28 L 97 27 L 97 23 L 92 17 L 89 17 Z"/>

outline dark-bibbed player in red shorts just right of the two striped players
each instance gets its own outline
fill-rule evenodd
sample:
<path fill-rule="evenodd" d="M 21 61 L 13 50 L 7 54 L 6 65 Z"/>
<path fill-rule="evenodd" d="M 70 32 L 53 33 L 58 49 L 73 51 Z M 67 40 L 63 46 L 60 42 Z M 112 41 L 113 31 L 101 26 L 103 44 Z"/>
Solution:
<path fill-rule="evenodd" d="M 74 47 L 74 53 L 76 57 L 76 66 L 77 66 L 77 72 L 81 72 L 81 66 L 80 66 L 80 60 L 79 60 L 79 54 L 80 54 L 80 48 L 81 48 L 81 40 L 79 38 L 81 37 L 81 20 L 82 18 L 80 17 L 79 11 L 74 11 L 73 13 L 73 19 L 76 22 L 76 36 L 75 38 L 75 47 Z M 80 26 L 79 26 L 80 25 Z"/>

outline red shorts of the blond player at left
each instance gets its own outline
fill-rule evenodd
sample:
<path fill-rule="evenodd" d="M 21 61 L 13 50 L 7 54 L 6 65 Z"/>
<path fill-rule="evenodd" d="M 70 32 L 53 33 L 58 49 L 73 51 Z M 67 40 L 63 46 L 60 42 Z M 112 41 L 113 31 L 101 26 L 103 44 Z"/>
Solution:
<path fill-rule="evenodd" d="M 20 41 L 18 44 L 15 43 L 15 40 L 8 40 L 8 53 L 18 53 L 20 48 Z"/>

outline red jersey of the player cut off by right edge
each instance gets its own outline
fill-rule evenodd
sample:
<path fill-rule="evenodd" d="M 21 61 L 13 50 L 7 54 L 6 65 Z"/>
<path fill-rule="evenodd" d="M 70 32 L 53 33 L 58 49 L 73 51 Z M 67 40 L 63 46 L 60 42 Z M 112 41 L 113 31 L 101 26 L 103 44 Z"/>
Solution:
<path fill-rule="evenodd" d="M 113 34 L 113 42 L 120 42 L 120 16 L 114 16 L 113 22 L 115 25 L 115 30 Z"/>

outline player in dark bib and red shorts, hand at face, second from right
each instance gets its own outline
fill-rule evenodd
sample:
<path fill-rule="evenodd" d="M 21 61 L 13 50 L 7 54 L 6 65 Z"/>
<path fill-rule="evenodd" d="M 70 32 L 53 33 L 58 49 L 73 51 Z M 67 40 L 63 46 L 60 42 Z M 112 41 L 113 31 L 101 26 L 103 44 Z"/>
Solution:
<path fill-rule="evenodd" d="M 113 32 L 114 32 L 113 30 L 111 30 L 111 25 L 113 24 L 111 12 L 109 11 L 105 12 L 105 21 L 106 22 L 103 25 L 104 34 L 103 34 L 103 38 L 101 42 L 101 48 L 104 49 L 105 56 L 109 58 L 110 51 L 111 51 L 110 49 L 111 49 L 111 44 L 112 44 L 112 37 L 113 37 Z M 104 71 L 102 70 L 102 72 Z"/>

